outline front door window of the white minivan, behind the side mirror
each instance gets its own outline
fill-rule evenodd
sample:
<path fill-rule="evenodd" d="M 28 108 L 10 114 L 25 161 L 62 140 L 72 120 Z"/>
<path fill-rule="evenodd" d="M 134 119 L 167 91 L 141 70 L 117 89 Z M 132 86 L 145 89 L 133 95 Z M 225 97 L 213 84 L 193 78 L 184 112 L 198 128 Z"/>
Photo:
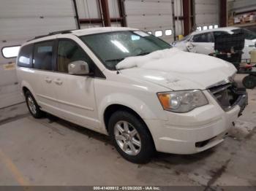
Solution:
<path fill-rule="evenodd" d="M 83 49 L 71 40 L 60 40 L 58 47 L 58 71 L 67 73 L 69 63 L 85 61 L 89 68 L 93 66 L 91 59 Z"/>

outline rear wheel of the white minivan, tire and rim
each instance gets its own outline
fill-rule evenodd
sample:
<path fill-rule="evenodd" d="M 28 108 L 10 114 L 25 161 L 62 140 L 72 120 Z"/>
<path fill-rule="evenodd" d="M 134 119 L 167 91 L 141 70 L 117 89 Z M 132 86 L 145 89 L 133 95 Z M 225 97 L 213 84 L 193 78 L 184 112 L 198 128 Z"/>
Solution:
<path fill-rule="evenodd" d="M 34 118 L 41 118 L 45 115 L 45 112 L 42 112 L 37 104 L 37 101 L 34 99 L 34 96 L 28 90 L 25 93 L 26 105 L 28 106 L 29 112 Z"/>

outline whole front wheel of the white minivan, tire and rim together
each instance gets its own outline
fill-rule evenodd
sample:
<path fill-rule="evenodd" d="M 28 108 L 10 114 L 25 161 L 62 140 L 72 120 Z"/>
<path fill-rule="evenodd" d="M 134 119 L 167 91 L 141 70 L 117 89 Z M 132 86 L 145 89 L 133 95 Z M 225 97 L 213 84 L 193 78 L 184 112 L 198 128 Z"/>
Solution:
<path fill-rule="evenodd" d="M 108 122 L 110 139 L 117 151 L 132 163 L 147 163 L 155 148 L 145 123 L 134 114 L 117 111 Z"/>

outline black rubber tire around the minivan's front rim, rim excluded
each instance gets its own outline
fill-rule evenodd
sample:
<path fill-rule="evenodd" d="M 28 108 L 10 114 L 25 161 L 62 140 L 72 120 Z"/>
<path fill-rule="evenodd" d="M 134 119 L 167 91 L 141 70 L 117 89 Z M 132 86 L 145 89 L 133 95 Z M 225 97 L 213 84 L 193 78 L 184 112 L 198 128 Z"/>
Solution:
<path fill-rule="evenodd" d="M 141 149 L 138 155 L 128 155 L 125 153 L 117 144 L 114 134 L 114 126 L 118 121 L 127 121 L 138 131 L 141 141 Z M 110 139 L 116 147 L 116 150 L 120 153 L 122 157 L 129 160 L 132 163 L 148 163 L 151 157 L 155 153 L 154 141 L 151 138 L 151 134 L 146 127 L 146 124 L 141 121 L 135 114 L 127 111 L 117 111 L 113 113 L 108 122 L 108 130 L 110 134 Z"/>

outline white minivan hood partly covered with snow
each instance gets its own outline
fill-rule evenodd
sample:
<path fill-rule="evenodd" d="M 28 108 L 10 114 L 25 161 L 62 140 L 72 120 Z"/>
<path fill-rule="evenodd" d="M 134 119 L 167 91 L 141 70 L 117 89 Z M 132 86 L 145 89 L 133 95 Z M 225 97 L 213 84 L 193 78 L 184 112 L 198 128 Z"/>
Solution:
<path fill-rule="evenodd" d="M 236 73 L 232 63 L 177 48 L 126 58 L 116 65 L 116 69 L 121 70 L 121 74 L 171 90 L 205 90 Z"/>

